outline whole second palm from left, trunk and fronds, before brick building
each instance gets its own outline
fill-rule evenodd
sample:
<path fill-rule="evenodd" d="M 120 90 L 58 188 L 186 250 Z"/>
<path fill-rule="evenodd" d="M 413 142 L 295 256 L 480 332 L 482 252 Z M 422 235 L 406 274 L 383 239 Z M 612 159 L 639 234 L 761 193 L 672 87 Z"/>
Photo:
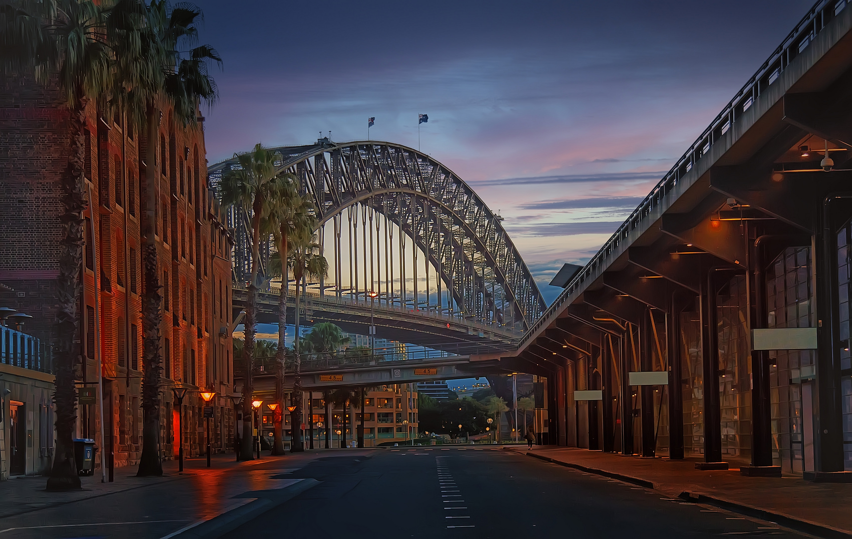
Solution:
<path fill-rule="evenodd" d="M 123 109 L 130 123 L 146 129 L 146 185 L 158 181 L 155 165 L 158 139 L 158 101 L 173 106 L 174 117 L 184 128 L 198 123 L 199 101 L 216 101 L 216 83 L 208 75 L 208 63 L 222 64 L 210 45 L 194 46 L 198 39 L 201 10 L 181 2 L 172 9 L 166 0 L 118 0 L 110 10 L 107 34 L 113 44 L 120 84 L 113 92 L 113 106 Z M 187 51 L 188 52 L 184 52 Z M 164 158 L 164 157 L 161 157 Z M 162 370 L 160 327 L 163 321 L 158 278 L 155 222 L 157 190 L 144 190 L 142 220 L 144 247 L 142 287 L 142 454 L 138 476 L 163 474 L 159 456 L 159 397 Z"/>

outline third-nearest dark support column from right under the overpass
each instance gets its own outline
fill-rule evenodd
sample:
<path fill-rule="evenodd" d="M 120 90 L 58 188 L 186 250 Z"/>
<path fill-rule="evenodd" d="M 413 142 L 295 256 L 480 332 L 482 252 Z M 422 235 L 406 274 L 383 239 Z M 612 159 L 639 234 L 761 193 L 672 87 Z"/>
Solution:
<path fill-rule="evenodd" d="M 722 424 L 719 408 L 719 335 L 716 307 L 717 271 L 711 267 L 701 290 L 701 363 L 704 376 L 704 462 L 699 470 L 727 470 L 722 462 Z"/>

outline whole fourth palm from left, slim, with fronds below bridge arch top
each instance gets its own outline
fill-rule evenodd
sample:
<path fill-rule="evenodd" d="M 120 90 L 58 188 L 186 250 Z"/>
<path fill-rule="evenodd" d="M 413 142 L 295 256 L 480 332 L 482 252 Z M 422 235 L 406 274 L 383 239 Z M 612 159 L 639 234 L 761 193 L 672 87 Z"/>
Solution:
<path fill-rule="evenodd" d="M 310 216 L 314 204 L 308 195 L 299 195 L 296 176 L 290 173 L 278 176 L 267 200 L 267 217 L 264 220 L 264 235 L 273 236 L 278 257 L 269 261 L 269 273 L 281 278 L 278 300 L 278 353 L 276 354 L 275 402 L 278 410 L 284 408 L 284 363 L 287 356 L 285 335 L 287 330 L 287 289 L 289 272 L 287 260 L 290 250 L 290 238 L 311 232 L 313 226 Z M 308 230 L 306 230 L 308 229 Z M 281 415 L 275 414 L 273 434 L 273 455 L 284 455 L 284 437 L 282 435 Z"/>

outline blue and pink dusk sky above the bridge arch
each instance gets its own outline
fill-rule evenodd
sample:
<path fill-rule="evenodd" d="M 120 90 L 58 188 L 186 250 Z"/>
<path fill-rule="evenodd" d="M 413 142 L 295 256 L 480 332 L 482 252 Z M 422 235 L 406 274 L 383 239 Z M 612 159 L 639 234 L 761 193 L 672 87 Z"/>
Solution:
<path fill-rule="evenodd" d="M 546 286 L 593 255 L 809 9 L 752 2 L 204 0 L 210 163 L 332 140 L 417 147 L 505 217 Z M 549 290 L 550 289 L 550 290 Z"/>

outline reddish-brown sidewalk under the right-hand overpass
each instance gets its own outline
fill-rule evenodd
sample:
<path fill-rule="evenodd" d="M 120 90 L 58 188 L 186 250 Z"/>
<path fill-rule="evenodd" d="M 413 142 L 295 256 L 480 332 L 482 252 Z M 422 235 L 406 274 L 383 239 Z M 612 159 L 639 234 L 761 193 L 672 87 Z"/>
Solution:
<path fill-rule="evenodd" d="M 852 536 L 850 484 L 811 483 L 796 477 L 744 477 L 739 468 L 702 472 L 695 469 L 692 460 L 670 461 L 577 448 L 506 449 L 818 536 Z"/>

